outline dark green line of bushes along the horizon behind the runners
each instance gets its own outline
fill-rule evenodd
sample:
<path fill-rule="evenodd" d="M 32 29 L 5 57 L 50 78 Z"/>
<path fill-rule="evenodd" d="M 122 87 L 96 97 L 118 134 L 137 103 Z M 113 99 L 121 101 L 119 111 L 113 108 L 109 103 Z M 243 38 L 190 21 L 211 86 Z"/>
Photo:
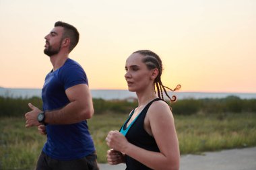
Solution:
<path fill-rule="evenodd" d="M 0 116 L 24 116 L 30 111 L 28 103 L 32 103 L 42 110 L 40 97 L 11 98 L 0 97 Z M 121 113 L 129 114 L 137 107 L 137 101 L 93 99 L 95 114 Z M 181 99 L 171 105 L 173 114 L 222 114 L 245 113 L 256 114 L 256 99 L 240 99 L 236 96 L 228 96 L 223 99 Z"/>

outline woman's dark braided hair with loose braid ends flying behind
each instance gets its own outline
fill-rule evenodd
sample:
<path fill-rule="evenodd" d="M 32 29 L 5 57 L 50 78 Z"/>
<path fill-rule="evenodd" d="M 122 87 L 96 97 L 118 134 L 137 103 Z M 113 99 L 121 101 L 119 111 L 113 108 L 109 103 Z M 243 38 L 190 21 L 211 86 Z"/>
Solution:
<path fill-rule="evenodd" d="M 152 70 L 152 69 L 158 69 L 158 77 L 156 77 L 155 81 L 154 81 L 154 91 L 156 93 L 156 89 L 157 89 L 157 93 L 158 93 L 158 97 L 160 99 L 164 99 L 164 95 L 163 92 L 165 93 L 165 95 L 170 99 L 170 102 L 174 102 L 177 100 L 176 95 L 172 95 L 172 97 L 170 97 L 166 91 L 166 89 L 169 89 L 170 91 L 175 91 L 175 90 L 179 90 L 181 89 L 181 85 L 177 85 L 177 87 L 175 89 L 170 89 L 169 87 L 166 87 L 162 84 L 161 81 L 161 75 L 162 75 L 162 60 L 160 59 L 160 57 L 158 56 L 158 54 L 150 51 L 150 50 L 137 50 L 134 53 L 139 53 L 143 56 L 145 56 L 142 59 L 142 62 L 146 64 L 146 66 L 148 67 L 148 69 Z"/>

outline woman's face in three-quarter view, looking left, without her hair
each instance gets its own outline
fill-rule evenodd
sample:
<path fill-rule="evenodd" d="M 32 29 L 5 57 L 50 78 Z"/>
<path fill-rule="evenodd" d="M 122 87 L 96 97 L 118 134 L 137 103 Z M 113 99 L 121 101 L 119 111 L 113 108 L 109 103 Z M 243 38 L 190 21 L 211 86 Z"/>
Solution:
<path fill-rule="evenodd" d="M 125 80 L 129 91 L 143 91 L 148 86 L 153 87 L 152 71 L 142 62 L 144 56 L 139 53 L 131 54 L 125 64 Z"/>

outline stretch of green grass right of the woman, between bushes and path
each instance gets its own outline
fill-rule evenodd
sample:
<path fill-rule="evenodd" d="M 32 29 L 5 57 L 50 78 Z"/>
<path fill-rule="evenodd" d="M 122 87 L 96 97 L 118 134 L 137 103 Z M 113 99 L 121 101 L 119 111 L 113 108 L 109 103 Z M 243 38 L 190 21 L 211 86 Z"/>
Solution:
<path fill-rule="evenodd" d="M 182 154 L 256 146 L 256 115 L 176 116 Z"/>

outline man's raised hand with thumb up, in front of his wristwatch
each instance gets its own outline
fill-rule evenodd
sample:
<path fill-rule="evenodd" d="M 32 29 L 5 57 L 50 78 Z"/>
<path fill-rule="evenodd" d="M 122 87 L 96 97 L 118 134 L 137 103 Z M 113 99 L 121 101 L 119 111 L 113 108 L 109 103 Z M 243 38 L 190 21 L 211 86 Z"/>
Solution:
<path fill-rule="evenodd" d="M 26 128 L 30 128 L 32 126 L 39 126 L 40 123 L 37 120 L 37 116 L 42 111 L 32 105 L 32 103 L 28 103 L 28 106 L 30 107 L 31 111 L 25 114 Z"/>

